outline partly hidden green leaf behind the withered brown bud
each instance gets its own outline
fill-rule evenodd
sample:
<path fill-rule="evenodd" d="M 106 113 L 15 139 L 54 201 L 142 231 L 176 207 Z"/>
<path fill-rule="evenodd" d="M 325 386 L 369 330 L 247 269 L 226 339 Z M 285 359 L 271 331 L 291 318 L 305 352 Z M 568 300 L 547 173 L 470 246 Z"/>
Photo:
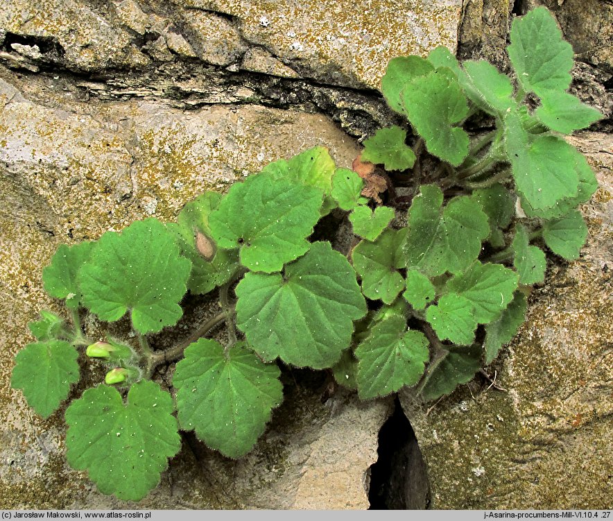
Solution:
<path fill-rule="evenodd" d="M 187 281 L 187 289 L 191 293 L 209 293 L 230 280 L 239 268 L 238 250 L 216 248 L 211 239 L 209 214 L 217 209 L 221 198 L 221 194 L 207 191 L 183 207 L 177 223 L 166 225 L 177 237 L 182 255 L 191 260 L 191 273 Z M 208 252 L 203 255 L 199 250 L 201 240 L 210 248 L 210 255 Z"/>

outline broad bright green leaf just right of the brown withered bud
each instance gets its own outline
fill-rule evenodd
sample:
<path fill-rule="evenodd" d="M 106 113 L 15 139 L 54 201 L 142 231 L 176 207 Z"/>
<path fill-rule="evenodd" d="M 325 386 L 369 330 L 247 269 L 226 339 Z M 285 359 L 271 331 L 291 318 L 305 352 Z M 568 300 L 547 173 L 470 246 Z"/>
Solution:
<path fill-rule="evenodd" d="M 232 185 L 209 217 L 221 248 L 240 248 L 252 271 L 280 271 L 309 249 L 306 240 L 320 218 L 322 192 L 259 174 Z"/>

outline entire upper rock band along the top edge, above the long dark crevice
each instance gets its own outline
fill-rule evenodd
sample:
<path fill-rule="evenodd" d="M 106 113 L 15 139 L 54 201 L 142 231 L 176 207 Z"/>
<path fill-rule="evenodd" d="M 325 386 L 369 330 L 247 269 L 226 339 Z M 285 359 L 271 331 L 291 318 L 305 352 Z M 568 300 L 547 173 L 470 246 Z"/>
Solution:
<path fill-rule="evenodd" d="M 39 44 L 41 55 L 23 62 L 9 51 L 0 59 L 16 68 L 46 62 L 93 72 L 142 70 L 176 53 L 232 70 L 245 52 L 259 50 L 278 60 L 277 70 L 288 67 L 331 85 L 377 88 L 390 58 L 425 55 L 438 45 L 455 50 L 461 9 L 460 0 L 115 0 L 95 5 L 15 0 L 0 10 L 0 29 L 10 40 Z"/>

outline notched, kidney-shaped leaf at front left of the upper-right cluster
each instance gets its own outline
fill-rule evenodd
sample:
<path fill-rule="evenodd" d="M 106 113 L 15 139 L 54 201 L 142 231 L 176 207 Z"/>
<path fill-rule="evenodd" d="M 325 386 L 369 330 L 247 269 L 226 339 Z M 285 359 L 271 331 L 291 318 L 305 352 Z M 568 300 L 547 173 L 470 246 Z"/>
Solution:
<path fill-rule="evenodd" d="M 466 98 L 449 69 L 436 69 L 409 83 L 400 94 L 408 121 L 429 153 L 454 166 L 468 155 L 468 134 L 455 127 L 468 115 Z"/>

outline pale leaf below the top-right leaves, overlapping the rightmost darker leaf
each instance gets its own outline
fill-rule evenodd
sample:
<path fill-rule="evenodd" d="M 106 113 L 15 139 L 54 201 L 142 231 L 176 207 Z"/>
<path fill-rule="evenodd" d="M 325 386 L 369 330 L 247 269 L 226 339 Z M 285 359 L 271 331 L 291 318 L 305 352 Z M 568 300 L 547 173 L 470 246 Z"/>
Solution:
<path fill-rule="evenodd" d="M 505 123 L 513 178 L 530 206 L 544 210 L 562 198 L 576 196 L 579 182 L 576 149 L 555 136 L 539 135 L 530 142 L 515 112 L 507 114 Z"/>

